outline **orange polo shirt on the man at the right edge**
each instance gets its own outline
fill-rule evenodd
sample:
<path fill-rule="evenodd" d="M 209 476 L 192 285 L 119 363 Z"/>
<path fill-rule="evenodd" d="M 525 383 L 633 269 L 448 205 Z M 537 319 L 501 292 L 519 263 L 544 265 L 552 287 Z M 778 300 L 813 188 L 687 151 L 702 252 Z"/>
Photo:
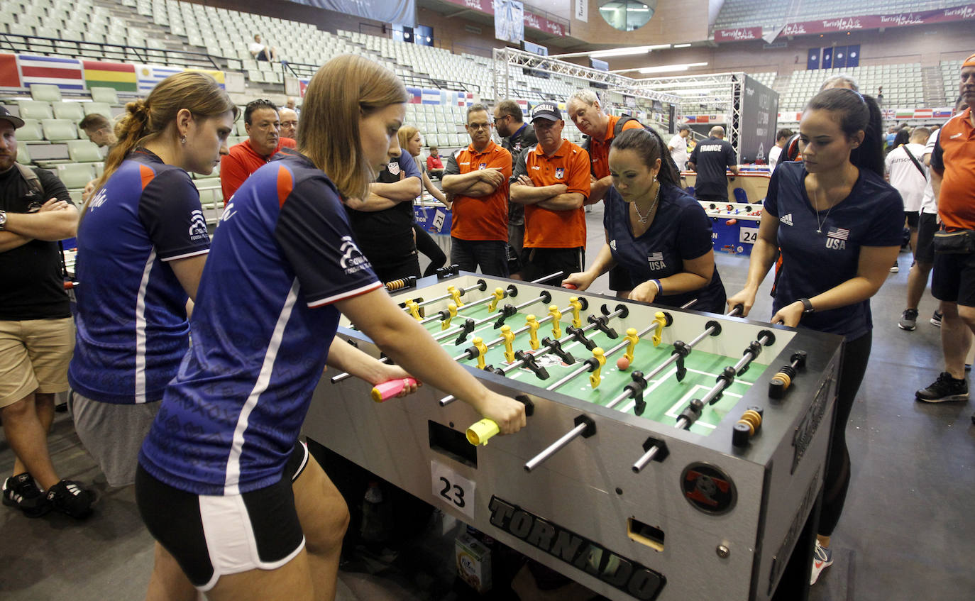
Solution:
<path fill-rule="evenodd" d="M 945 167 L 938 215 L 948 230 L 975 229 L 975 128 L 971 108 L 950 119 L 941 128 L 938 144 Z M 931 161 L 936 168 L 936 160 Z"/>

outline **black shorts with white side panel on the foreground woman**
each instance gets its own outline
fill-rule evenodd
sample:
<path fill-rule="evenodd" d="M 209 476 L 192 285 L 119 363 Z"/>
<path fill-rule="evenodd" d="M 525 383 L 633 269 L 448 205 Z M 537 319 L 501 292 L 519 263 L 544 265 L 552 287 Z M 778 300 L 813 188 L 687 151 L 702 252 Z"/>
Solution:
<path fill-rule="evenodd" d="M 140 464 L 136 501 L 149 534 L 176 558 L 199 590 L 221 576 L 275 570 L 304 548 L 292 482 L 308 464 L 308 448 L 294 445 L 281 480 L 233 496 L 195 495 L 160 482 Z"/>

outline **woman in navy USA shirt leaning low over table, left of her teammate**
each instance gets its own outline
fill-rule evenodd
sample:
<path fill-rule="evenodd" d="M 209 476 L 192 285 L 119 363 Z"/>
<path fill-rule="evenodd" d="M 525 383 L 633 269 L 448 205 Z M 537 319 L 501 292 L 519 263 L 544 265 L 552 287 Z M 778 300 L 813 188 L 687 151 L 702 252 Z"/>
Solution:
<path fill-rule="evenodd" d="M 656 132 L 627 130 L 609 147 L 613 186 L 605 199 L 606 243 L 589 269 L 563 284 L 586 290 L 621 264 L 640 282 L 631 300 L 720 313 L 724 287 L 715 266 L 711 220 L 680 185 L 680 174 Z"/>

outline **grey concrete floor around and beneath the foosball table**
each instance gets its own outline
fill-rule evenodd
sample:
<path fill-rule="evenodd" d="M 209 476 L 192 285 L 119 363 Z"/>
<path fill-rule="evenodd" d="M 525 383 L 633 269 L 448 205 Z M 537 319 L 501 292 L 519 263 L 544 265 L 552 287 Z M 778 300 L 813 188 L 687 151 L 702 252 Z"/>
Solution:
<path fill-rule="evenodd" d="M 602 218 L 601 207 L 587 215 L 589 260 L 603 244 Z M 722 255 L 717 261 L 728 293 L 737 292 L 748 260 Z M 975 404 L 914 400 L 914 391 L 934 381 L 942 366 L 938 329 L 927 323 L 934 300 L 922 300 L 917 331 L 897 328 L 910 261 L 909 254 L 901 254 L 901 271 L 890 275 L 873 300 L 873 353 L 847 427 L 853 479 L 834 537 L 836 564 L 813 586 L 814 600 L 958 601 L 975 594 L 975 426 L 970 421 Z M 594 290 L 606 290 L 605 276 Z M 766 283 L 755 317 L 771 315 L 767 290 Z M 139 520 L 132 488 L 106 487 L 64 414 L 58 414 L 50 445 L 62 477 L 94 483 L 101 495 L 98 511 L 76 522 L 56 514 L 29 520 L 0 508 L 0 599 L 141 599 L 152 540 Z M 9 474 L 12 464 L 0 433 L 0 473 Z M 451 563 L 453 537 L 461 529 L 435 515 L 427 533 L 395 560 L 348 564 L 339 574 L 337 598 L 465 598 L 453 585 Z M 523 599 L 589 596 L 568 587 L 549 595 L 516 589 Z"/>

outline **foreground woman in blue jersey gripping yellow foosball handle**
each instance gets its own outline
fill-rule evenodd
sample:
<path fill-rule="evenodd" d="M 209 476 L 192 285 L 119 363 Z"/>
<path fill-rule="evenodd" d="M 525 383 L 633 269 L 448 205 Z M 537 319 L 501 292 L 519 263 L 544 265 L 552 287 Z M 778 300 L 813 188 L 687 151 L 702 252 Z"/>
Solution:
<path fill-rule="evenodd" d="M 385 163 L 407 99 L 388 69 L 330 60 L 308 85 L 297 149 L 225 208 L 193 345 L 139 454 L 139 512 L 159 542 L 149 599 L 192 599 L 193 586 L 212 600 L 334 596 L 348 509 L 295 446 L 326 365 L 371 383 L 408 370 L 503 433 L 525 425 L 521 403 L 487 390 L 389 298 L 342 207 Z M 335 339 L 339 313 L 403 367 Z"/>

